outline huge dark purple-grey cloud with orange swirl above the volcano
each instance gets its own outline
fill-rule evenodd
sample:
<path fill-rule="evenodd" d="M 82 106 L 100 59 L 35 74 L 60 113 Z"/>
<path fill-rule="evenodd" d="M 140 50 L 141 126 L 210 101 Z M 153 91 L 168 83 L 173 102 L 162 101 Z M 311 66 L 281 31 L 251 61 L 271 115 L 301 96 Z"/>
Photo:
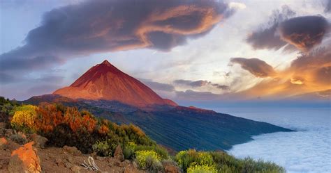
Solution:
<path fill-rule="evenodd" d="M 169 51 L 229 17 L 219 1 L 83 1 L 55 8 L 25 45 L 0 55 L 0 72 L 51 67 L 73 56 L 128 49 Z"/>

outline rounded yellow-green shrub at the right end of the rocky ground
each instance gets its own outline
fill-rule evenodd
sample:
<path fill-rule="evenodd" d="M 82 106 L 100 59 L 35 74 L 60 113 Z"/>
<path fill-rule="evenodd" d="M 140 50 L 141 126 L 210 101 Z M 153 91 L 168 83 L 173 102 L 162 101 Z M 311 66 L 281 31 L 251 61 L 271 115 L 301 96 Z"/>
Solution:
<path fill-rule="evenodd" d="M 135 159 L 138 162 L 138 166 L 143 170 L 152 167 L 153 164 L 156 164 L 155 162 L 160 162 L 160 158 L 155 151 L 147 150 L 136 151 Z"/>

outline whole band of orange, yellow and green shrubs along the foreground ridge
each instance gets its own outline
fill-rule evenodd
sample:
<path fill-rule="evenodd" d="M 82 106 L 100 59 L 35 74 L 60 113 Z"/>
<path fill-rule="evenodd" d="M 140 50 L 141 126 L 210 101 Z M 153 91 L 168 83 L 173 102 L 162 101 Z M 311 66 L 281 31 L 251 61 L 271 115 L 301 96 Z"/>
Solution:
<path fill-rule="evenodd" d="M 113 156 L 115 148 L 121 145 L 124 158 L 135 160 L 140 169 L 149 172 L 162 172 L 163 165 L 178 166 L 188 173 L 285 172 L 274 163 L 238 159 L 223 151 L 190 149 L 179 151 L 171 158 L 167 150 L 156 145 L 138 126 L 117 125 L 78 108 L 60 104 L 20 106 L 3 97 L 0 97 L 0 106 L 1 115 L 9 117 L 13 129 L 43 135 L 49 140 L 48 145 L 75 146 L 84 153 L 96 151 L 99 156 Z M 13 136 L 13 140 L 24 142 L 19 135 Z"/>

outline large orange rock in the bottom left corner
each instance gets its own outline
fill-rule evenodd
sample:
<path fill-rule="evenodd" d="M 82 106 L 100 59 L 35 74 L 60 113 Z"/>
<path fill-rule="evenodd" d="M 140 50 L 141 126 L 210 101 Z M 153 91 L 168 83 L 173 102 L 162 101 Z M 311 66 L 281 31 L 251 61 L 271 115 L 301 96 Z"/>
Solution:
<path fill-rule="evenodd" d="M 34 142 L 29 142 L 12 152 L 8 165 L 9 172 L 41 172 L 41 161 L 32 145 Z"/>

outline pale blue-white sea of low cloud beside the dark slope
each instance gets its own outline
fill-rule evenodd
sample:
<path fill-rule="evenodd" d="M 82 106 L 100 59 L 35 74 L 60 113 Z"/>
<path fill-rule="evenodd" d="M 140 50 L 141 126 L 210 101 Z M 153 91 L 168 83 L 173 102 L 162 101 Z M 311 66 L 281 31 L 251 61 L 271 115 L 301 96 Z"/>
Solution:
<path fill-rule="evenodd" d="M 269 160 L 291 172 L 331 172 L 331 108 L 212 108 L 219 113 L 268 122 L 295 132 L 254 136 L 228 153 Z"/>

